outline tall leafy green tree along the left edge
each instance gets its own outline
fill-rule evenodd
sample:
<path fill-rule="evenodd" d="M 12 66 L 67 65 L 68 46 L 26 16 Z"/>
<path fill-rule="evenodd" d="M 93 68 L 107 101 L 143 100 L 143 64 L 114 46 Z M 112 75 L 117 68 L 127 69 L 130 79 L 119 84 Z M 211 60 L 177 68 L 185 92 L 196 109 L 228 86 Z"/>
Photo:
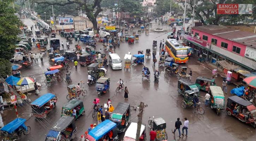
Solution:
<path fill-rule="evenodd" d="M 0 1 L 0 75 L 6 77 L 11 72 L 11 62 L 14 54 L 17 35 L 20 33 L 19 26 L 22 22 L 14 15 L 11 4 L 14 0 Z"/>

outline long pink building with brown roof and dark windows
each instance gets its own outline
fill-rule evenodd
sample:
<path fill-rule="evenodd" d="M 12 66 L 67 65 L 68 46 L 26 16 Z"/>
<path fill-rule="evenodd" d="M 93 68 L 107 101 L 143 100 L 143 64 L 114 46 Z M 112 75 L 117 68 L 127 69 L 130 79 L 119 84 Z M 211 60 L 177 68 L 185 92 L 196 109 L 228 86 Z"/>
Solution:
<path fill-rule="evenodd" d="M 198 51 L 214 64 L 233 62 L 250 70 L 256 70 L 256 34 L 239 31 L 221 25 L 192 27 L 191 36 L 184 38 L 191 43 L 196 55 Z M 222 63 L 222 64 L 221 64 Z"/>

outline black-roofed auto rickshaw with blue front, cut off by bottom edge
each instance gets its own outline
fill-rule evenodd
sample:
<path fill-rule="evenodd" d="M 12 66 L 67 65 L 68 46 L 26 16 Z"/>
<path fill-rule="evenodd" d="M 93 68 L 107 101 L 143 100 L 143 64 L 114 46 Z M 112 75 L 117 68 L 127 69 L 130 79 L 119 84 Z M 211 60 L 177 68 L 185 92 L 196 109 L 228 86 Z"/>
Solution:
<path fill-rule="evenodd" d="M 49 130 L 45 141 L 70 141 L 75 138 L 76 133 L 75 118 L 62 116 Z"/>

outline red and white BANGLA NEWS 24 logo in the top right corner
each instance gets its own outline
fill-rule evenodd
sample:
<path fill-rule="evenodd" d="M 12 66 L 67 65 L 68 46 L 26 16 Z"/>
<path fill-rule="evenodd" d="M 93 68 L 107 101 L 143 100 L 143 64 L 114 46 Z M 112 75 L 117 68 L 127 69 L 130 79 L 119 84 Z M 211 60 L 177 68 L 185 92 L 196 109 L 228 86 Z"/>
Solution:
<path fill-rule="evenodd" d="M 217 4 L 217 14 L 252 14 L 252 4 Z"/>

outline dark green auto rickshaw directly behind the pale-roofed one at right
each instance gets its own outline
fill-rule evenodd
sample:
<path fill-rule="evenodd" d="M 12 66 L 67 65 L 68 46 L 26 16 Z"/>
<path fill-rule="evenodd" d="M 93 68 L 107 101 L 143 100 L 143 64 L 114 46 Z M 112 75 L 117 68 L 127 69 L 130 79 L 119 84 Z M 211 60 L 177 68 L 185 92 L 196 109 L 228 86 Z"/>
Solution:
<path fill-rule="evenodd" d="M 199 90 L 207 91 L 209 92 L 209 86 L 216 86 L 215 79 L 210 79 L 205 76 L 198 76 L 196 78 L 196 85 L 199 88 Z"/>

